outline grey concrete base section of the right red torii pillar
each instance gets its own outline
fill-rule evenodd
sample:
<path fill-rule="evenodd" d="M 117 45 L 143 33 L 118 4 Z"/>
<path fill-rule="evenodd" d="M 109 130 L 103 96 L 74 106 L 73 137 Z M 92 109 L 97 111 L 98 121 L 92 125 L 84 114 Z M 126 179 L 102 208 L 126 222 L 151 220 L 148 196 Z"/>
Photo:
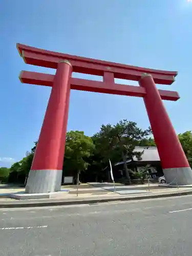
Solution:
<path fill-rule="evenodd" d="M 183 168 L 168 168 L 163 169 L 167 184 L 171 185 L 191 185 L 192 170 L 190 167 Z"/>

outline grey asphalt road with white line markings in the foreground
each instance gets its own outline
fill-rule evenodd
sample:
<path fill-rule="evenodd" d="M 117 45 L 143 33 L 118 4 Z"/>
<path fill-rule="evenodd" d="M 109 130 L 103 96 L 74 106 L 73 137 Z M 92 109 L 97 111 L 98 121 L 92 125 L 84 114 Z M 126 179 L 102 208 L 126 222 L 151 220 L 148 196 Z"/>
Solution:
<path fill-rule="evenodd" d="M 191 256 L 192 196 L 0 209 L 1 256 Z"/>

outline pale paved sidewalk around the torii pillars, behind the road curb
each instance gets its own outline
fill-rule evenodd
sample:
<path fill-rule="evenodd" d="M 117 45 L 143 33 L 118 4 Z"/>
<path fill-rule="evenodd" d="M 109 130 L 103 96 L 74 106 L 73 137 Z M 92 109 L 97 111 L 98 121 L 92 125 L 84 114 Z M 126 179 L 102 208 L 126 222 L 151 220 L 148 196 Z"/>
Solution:
<path fill-rule="evenodd" d="M 19 193 L 25 191 L 23 187 L 0 186 L 0 205 L 1 204 L 27 204 L 40 203 L 45 204 L 72 204 L 72 203 L 93 203 L 98 201 L 120 201 L 120 200 L 136 200 L 144 198 L 169 197 L 192 194 L 192 188 L 170 188 L 159 187 L 158 184 L 130 185 L 123 186 L 115 184 L 116 191 L 114 193 L 113 183 L 90 183 L 81 184 L 78 186 L 69 185 L 62 186 L 62 189 L 69 189 L 68 193 L 58 193 L 57 197 L 50 199 L 35 199 L 35 200 L 15 200 L 9 198 L 10 193 Z M 0 206 L 4 207 L 4 206 Z"/>

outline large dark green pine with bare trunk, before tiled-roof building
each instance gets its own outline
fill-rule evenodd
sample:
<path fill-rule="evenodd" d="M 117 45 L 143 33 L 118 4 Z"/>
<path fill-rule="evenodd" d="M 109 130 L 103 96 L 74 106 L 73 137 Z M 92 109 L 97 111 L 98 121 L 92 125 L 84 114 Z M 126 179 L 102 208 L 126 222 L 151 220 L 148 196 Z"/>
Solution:
<path fill-rule="evenodd" d="M 141 157 L 141 152 L 135 151 L 138 145 L 146 136 L 150 135 L 151 128 L 142 130 L 137 126 L 136 122 L 122 120 L 116 125 L 102 125 L 100 131 L 94 135 L 99 142 L 100 151 L 102 151 L 103 161 L 118 156 L 118 161 L 122 158 L 126 173 L 127 183 L 131 183 L 129 170 L 127 168 L 127 158 L 137 156 Z"/>

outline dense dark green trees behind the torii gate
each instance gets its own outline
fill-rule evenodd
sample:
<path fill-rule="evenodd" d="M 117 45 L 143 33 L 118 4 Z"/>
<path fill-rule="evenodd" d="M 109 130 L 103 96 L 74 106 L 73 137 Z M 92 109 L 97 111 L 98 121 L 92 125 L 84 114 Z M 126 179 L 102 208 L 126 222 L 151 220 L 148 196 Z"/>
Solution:
<path fill-rule="evenodd" d="M 118 161 L 124 162 L 124 170 L 128 183 L 130 171 L 127 169 L 126 159 L 136 156 L 138 159 L 142 153 L 135 151 L 135 146 L 155 146 L 151 137 L 152 131 L 140 129 L 137 123 L 122 120 L 116 125 L 101 125 L 98 133 L 92 137 L 83 132 L 70 131 L 66 135 L 65 159 L 63 161 L 63 173 L 76 176 L 77 173 L 86 176 L 102 177 L 103 170 Z M 189 162 L 192 163 L 192 133 L 187 131 L 178 135 L 183 150 Z M 33 161 L 37 142 L 30 152 L 19 162 L 12 164 L 11 168 L 0 167 L 0 181 L 25 183 Z M 143 172 L 145 174 L 145 171 Z M 141 174 L 138 174 L 144 177 Z"/>

